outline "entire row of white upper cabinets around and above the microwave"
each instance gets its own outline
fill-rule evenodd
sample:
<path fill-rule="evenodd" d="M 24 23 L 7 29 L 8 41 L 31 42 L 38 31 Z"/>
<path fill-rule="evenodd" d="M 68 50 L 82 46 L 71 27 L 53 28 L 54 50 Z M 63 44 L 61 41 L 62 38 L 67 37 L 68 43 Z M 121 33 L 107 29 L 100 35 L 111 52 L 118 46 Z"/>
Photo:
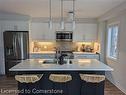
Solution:
<path fill-rule="evenodd" d="M 48 23 L 32 22 L 30 37 L 32 40 L 56 41 L 56 31 L 60 30 L 59 23 L 53 23 L 51 31 Z M 72 24 L 65 23 L 65 30 L 72 31 Z M 97 24 L 77 23 L 73 32 L 73 41 L 97 41 Z"/>

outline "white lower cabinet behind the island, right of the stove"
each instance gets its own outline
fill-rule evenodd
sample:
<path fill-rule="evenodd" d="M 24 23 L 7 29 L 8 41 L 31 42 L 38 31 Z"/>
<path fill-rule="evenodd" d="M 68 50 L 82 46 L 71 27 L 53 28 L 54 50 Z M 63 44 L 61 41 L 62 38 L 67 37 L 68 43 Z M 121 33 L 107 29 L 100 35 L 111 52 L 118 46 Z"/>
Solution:
<path fill-rule="evenodd" d="M 99 54 L 74 54 L 75 59 L 100 59 Z"/>

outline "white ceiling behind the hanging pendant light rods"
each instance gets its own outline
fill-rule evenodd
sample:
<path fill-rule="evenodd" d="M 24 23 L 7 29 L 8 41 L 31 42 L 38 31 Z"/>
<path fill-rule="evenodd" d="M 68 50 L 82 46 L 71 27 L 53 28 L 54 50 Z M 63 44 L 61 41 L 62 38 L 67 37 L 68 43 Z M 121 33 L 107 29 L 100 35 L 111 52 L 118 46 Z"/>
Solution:
<path fill-rule="evenodd" d="M 97 18 L 126 0 L 75 0 L 77 18 Z M 72 1 L 64 1 L 64 15 L 72 9 Z M 0 11 L 48 17 L 49 0 L 0 0 Z M 60 16 L 60 0 L 52 0 L 53 17 Z"/>

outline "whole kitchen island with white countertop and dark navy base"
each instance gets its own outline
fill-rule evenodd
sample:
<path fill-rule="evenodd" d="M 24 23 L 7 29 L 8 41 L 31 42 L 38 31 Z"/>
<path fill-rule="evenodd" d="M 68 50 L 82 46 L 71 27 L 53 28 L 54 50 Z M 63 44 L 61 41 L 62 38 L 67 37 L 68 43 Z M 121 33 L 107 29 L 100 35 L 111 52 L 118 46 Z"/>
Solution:
<path fill-rule="evenodd" d="M 52 63 L 44 63 L 47 62 Z M 53 89 L 53 82 L 49 80 L 50 74 L 69 74 L 72 76 L 72 81 L 69 82 L 67 88 L 67 95 L 104 95 L 104 81 L 100 83 L 86 83 L 81 80 L 80 74 L 96 74 L 105 75 L 105 71 L 113 71 L 113 69 L 106 64 L 96 59 L 71 59 L 71 64 L 59 65 L 53 63 L 52 59 L 28 59 L 10 69 L 16 72 L 17 75 L 22 74 L 43 74 L 43 77 L 38 82 L 32 83 L 19 83 L 18 88 L 24 89 Z M 54 87 L 56 88 L 56 87 Z M 57 86 L 57 89 L 60 89 Z M 52 93 L 32 93 L 32 94 L 19 94 L 19 95 L 66 95 L 52 94 Z"/>

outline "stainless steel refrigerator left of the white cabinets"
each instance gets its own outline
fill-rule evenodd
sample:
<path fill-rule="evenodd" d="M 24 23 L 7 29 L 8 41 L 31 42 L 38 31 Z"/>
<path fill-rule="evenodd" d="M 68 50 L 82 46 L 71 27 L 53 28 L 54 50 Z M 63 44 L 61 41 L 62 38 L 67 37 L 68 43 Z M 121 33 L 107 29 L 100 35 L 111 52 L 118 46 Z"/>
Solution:
<path fill-rule="evenodd" d="M 5 31 L 3 37 L 5 73 L 7 76 L 15 75 L 15 72 L 10 72 L 9 69 L 29 58 L 29 33 L 28 31 Z"/>

